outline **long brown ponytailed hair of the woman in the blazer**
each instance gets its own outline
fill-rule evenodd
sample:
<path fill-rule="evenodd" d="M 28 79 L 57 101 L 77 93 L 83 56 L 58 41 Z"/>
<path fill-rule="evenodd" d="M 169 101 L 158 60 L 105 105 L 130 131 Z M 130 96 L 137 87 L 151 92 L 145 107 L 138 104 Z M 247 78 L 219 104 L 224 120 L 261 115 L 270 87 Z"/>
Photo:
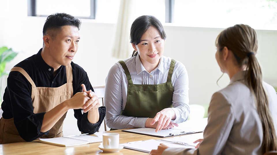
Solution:
<path fill-rule="evenodd" d="M 258 39 L 254 29 L 248 25 L 238 24 L 222 31 L 216 44 L 219 52 L 224 47 L 231 50 L 239 67 L 247 65 L 245 80 L 254 95 L 257 112 L 263 127 L 263 153 L 277 149 L 277 138 L 269 111 L 268 97 L 263 87 L 261 66 L 255 56 L 258 50 Z"/>

